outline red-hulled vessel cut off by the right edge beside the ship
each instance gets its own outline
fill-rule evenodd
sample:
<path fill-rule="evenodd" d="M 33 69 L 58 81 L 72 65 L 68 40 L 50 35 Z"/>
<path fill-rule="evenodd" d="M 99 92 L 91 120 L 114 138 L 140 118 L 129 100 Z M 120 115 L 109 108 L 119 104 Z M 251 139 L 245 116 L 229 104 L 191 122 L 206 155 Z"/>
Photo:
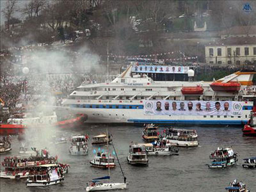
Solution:
<path fill-rule="evenodd" d="M 256 100 L 253 101 L 253 109 L 251 111 L 251 118 L 242 129 L 243 136 L 256 136 Z"/>

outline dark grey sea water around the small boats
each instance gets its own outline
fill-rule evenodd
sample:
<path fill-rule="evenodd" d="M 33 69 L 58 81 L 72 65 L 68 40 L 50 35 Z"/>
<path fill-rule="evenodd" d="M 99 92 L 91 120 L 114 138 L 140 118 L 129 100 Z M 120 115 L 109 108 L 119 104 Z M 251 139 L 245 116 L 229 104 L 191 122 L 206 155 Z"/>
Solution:
<path fill-rule="evenodd" d="M 131 141 L 141 143 L 142 127 L 132 125 L 105 126 L 84 125 L 76 130 L 62 130 L 71 136 L 74 133 L 89 134 L 90 138 L 100 132 L 113 134 L 113 143 L 122 164 L 122 168 L 129 182 L 126 191 L 225 191 L 225 187 L 234 179 L 246 183 L 251 192 L 256 191 L 256 169 L 246 169 L 241 166 L 245 157 L 256 156 L 256 138 L 243 137 L 241 127 L 186 127 L 198 132 L 199 147 L 180 148 L 179 156 L 149 157 L 149 164 L 145 167 L 127 164 L 126 156 Z M 180 128 L 180 127 L 179 127 Z M 164 128 L 160 128 L 163 131 Z M 43 138 L 44 136 L 42 136 Z M 93 149 L 89 141 L 88 156 L 70 156 L 70 143 L 51 145 L 50 154 L 58 155 L 60 163 L 68 163 L 71 168 L 65 175 L 62 184 L 46 188 L 26 188 L 25 180 L 0 180 L 1 192 L 7 191 L 85 191 L 86 182 L 93 178 L 108 175 L 108 170 L 92 168 L 89 161 L 93 159 Z M 17 156 L 21 142 L 13 136 L 12 152 L 1 156 Z M 209 154 L 218 147 L 232 147 L 238 153 L 235 166 L 225 169 L 209 169 Z M 102 148 L 100 148 L 102 150 Z M 106 151 L 106 147 L 104 147 Z M 109 151 L 113 147 L 109 145 Z M 117 161 L 116 161 L 117 164 Z M 3 167 L 1 168 L 3 170 Z M 120 167 L 111 170 L 113 182 L 123 182 Z"/>

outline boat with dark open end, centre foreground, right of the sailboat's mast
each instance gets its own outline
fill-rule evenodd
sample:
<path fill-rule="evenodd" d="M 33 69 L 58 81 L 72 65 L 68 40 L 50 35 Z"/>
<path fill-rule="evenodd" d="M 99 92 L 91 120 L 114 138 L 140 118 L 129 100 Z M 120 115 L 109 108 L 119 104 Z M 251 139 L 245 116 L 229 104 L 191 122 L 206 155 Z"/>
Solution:
<path fill-rule="evenodd" d="M 139 144 L 130 145 L 127 161 L 129 164 L 147 165 L 148 157 L 145 146 Z"/>

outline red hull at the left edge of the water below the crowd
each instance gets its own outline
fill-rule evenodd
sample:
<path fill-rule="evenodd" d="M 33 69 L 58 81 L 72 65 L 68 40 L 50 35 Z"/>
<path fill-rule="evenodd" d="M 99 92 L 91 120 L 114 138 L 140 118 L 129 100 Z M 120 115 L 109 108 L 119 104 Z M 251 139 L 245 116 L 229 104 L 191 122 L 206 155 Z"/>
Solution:
<path fill-rule="evenodd" d="M 22 134 L 25 132 L 25 125 L 0 124 L 0 134 Z"/>

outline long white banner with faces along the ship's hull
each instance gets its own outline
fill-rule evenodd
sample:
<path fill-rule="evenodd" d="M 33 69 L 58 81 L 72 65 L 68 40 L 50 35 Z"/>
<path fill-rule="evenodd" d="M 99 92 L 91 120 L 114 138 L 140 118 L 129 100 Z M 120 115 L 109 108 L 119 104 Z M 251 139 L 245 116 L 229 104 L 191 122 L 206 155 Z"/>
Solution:
<path fill-rule="evenodd" d="M 145 115 L 241 116 L 243 102 L 204 100 L 145 100 Z"/>

